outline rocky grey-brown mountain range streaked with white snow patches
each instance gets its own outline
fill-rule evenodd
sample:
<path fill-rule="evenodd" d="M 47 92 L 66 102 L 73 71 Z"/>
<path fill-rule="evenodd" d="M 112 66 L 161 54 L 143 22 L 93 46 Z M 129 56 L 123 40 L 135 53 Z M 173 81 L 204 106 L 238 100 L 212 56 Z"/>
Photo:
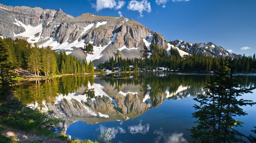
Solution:
<path fill-rule="evenodd" d="M 56 51 L 66 51 L 67 54 L 72 54 L 79 59 L 86 57 L 87 61 L 92 60 L 94 65 L 115 56 L 117 50 L 123 58 L 144 57 L 141 51 L 149 49 L 151 42 L 167 50 L 175 48 L 164 39 L 163 35 L 151 31 L 133 19 L 90 13 L 74 18 L 61 9 L 44 10 L 40 7 L 13 7 L 0 4 L 0 33 L 5 37 L 26 38 L 28 42 L 37 43 L 40 47 L 50 46 Z M 212 45 L 215 47 L 210 49 L 215 52 L 215 55 L 208 52 L 203 44 L 179 43 L 177 40 L 174 43 L 184 46 L 185 50 L 193 46 L 189 49 L 190 51 L 200 49 L 200 53 L 208 56 L 234 57 L 214 44 Z M 92 54 L 84 52 L 83 48 L 86 44 L 93 45 Z M 189 54 L 177 49 L 181 56 Z"/>

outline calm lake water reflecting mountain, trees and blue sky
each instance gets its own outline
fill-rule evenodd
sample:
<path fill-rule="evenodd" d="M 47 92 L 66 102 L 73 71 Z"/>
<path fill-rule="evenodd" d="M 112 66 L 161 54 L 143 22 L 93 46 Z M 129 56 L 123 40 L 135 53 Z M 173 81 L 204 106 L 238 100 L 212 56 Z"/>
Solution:
<path fill-rule="evenodd" d="M 191 142 L 196 126 L 191 113 L 197 94 L 205 94 L 209 74 L 113 73 L 67 76 L 18 84 L 17 97 L 32 107 L 54 110 L 67 120 L 67 135 L 94 140 L 104 128 L 116 128 L 113 142 Z M 255 86 L 256 74 L 239 76 L 243 87 Z M 256 90 L 253 90 L 255 93 Z M 256 101 L 254 93 L 243 99 Z M 236 117 L 245 122 L 236 129 L 245 135 L 256 125 L 256 106 Z"/>

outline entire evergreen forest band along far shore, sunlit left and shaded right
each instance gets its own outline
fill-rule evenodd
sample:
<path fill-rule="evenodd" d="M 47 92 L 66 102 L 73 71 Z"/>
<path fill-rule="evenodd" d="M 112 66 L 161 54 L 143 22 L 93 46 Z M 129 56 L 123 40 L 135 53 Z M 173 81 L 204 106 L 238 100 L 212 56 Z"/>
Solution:
<path fill-rule="evenodd" d="M 30 45 L 25 39 L 4 38 L 4 42 L 11 51 L 11 60 L 15 68 L 22 68 L 35 73 L 35 76 L 54 75 L 65 73 L 94 73 L 92 62 L 87 63 L 86 59 L 78 60 L 72 55 L 66 55 L 65 51 L 55 52 L 48 47 L 39 47 L 36 44 Z M 86 46 L 86 52 L 91 51 Z M 151 43 L 151 57 L 145 58 L 122 58 L 119 51 L 115 57 L 110 57 L 101 62 L 97 67 L 99 70 L 111 71 L 183 71 L 183 72 L 211 72 L 216 71 L 220 62 L 233 62 L 237 72 L 251 72 L 256 69 L 255 54 L 239 58 L 210 57 L 202 54 L 190 54 L 181 57 L 177 49 L 169 51 Z M 147 56 L 147 55 L 146 55 Z"/>

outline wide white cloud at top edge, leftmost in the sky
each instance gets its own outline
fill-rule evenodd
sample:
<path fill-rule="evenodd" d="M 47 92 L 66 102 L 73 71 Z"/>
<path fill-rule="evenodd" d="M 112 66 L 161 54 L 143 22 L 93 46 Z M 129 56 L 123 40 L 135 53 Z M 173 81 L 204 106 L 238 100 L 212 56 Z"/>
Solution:
<path fill-rule="evenodd" d="M 120 9 L 124 5 L 125 5 L 125 1 L 116 2 L 115 0 L 96 0 L 96 4 L 92 4 L 92 7 L 95 7 L 96 11 L 99 11 L 104 8 Z"/>

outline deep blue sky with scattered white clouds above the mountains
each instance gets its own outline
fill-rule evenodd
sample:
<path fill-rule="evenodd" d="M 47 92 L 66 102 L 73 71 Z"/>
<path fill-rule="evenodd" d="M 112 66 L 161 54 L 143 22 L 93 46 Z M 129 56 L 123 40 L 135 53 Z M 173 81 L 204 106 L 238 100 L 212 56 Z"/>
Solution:
<path fill-rule="evenodd" d="M 1 0 L 4 5 L 135 19 L 167 41 L 213 42 L 231 53 L 256 53 L 256 0 Z M 120 13 L 121 12 L 121 13 Z M 242 50 L 242 49 L 243 50 Z"/>

